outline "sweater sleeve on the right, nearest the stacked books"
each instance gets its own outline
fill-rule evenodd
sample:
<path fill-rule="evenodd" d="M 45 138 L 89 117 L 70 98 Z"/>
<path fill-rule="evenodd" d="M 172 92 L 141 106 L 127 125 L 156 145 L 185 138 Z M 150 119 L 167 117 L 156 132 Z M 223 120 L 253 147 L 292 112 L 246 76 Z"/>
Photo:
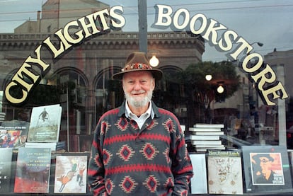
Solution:
<path fill-rule="evenodd" d="M 188 195 L 190 178 L 193 177 L 193 165 L 185 146 L 180 125 L 176 125 L 177 134 L 173 142 L 172 172 L 174 176 L 173 195 Z"/>

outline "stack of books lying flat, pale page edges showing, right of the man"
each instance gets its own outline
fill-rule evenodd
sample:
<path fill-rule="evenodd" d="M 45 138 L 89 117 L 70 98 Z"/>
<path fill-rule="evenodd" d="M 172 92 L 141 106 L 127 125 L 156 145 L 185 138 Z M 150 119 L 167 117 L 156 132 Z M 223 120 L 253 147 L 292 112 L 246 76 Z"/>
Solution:
<path fill-rule="evenodd" d="M 190 135 L 185 137 L 186 143 L 195 147 L 195 151 L 208 149 L 224 150 L 220 135 L 223 135 L 223 124 L 195 124 L 189 128 Z"/>

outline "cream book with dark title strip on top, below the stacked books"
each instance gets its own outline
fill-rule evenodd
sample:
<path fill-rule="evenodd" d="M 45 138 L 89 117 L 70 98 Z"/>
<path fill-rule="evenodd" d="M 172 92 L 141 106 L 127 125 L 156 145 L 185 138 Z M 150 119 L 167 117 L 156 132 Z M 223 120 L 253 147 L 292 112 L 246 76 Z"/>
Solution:
<path fill-rule="evenodd" d="M 209 194 L 243 194 L 239 151 L 210 150 L 207 155 Z"/>

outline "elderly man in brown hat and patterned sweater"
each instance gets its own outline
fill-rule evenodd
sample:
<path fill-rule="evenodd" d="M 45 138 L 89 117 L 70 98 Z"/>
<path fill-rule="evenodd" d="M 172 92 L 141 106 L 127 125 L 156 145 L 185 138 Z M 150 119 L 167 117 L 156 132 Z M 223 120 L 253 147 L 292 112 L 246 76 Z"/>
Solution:
<path fill-rule="evenodd" d="M 144 52 L 133 52 L 122 80 L 125 101 L 98 121 L 88 165 L 94 195 L 188 195 L 193 166 L 178 119 L 151 101 L 155 80 Z"/>

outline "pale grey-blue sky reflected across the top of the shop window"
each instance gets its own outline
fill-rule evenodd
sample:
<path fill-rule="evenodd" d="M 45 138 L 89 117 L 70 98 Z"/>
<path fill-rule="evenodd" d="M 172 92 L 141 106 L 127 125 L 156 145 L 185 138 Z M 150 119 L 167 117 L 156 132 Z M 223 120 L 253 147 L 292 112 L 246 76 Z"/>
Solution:
<path fill-rule="evenodd" d="M 74 4 L 76 0 L 69 1 Z M 14 28 L 25 21 L 35 21 L 37 11 L 42 10 L 45 0 L 0 0 L 0 33 L 13 33 Z M 123 16 L 126 19 L 123 31 L 138 30 L 138 1 L 133 0 L 104 0 L 110 6 L 123 6 Z M 203 13 L 207 18 L 213 18 L 248 42 L 262 42 L 263 47 L 253 45 L 254 52 L 262 55 L 272 52 L 293 49 L 293 26 L 290 22 L 293 16 L 293 1 L 290 0 L 222 0 L 222 1 L 174 1 L 174 0 L 148 0 L 147 22 L 149 31 L 159 31 L 152 28 L 155 23 L 156 4 L 165 4 L 173 8 L 175 13 L 178 8 L 185 8 L 190 12 L 190 17 Z M 167 29 L 170 30 L 170 29 Z M 225 53 L 218 52 L 214 47 L 206 44 L 206 52 L 202 60 L 219 62 L 225 60 Z"/>

